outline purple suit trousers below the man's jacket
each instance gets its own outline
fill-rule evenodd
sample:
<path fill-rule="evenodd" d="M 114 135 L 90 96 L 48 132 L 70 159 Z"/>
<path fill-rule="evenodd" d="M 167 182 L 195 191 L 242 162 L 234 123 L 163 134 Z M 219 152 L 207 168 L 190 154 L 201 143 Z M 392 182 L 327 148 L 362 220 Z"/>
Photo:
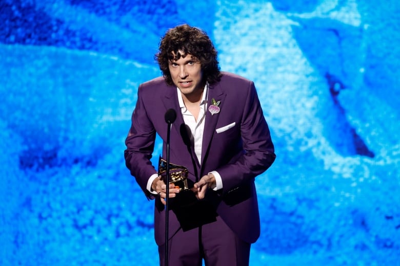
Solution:
<path fill-rule="evenodd" d="M 178 232 L 168 242 L 170 266 L 246 266 L 250 243 L 239 239 L 221 217 L 213 223 Z M 160 266 L 165 265 L 165 246 L 158 247 Z"/>

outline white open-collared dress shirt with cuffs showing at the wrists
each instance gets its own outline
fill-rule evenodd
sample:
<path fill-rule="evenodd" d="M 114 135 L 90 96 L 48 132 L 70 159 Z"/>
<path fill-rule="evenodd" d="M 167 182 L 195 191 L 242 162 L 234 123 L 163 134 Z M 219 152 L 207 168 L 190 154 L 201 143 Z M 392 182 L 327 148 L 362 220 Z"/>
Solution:
<path fill-rule="evenodd" d="M 185 103 L 182 98 L 181 91 L 176 87 L 176 92 L 178 95 L 178 102 L 179 107 L 181 107 L 181 113 L 184 119 L 185 124 L 190 128 L 192 134 L 192 145 L 194 145 L 194 152 L 196 153 L 196 157 L 199 163 L 202 160 L 202 145 L 203 145 L 203 131 L 204 131 L 204 124 L 206 120 L 206 111 L 207 111 L 207 97 L 208 97 L 208 84 L 204 87 L 202 100 L 200 101 L 200 112 L 197 116 L 197 121 L 195 120 L 194 116 L 189 112 L 186 108 Z M 217 171 L 211 171 L 209 174 L 212 173 L 215 177 L 216 187 L 214 190 L 218 190 L 222 188 L 222 180 L 221 175 Z M 151 189 L 151 184 L 153 183 L 154 179 L 158 177 L 158 174 L 153 174 L 150 176 L 149 181 L 147 182 L 147 190 L 153 194 L 156 194 L 155 191 Z"/>

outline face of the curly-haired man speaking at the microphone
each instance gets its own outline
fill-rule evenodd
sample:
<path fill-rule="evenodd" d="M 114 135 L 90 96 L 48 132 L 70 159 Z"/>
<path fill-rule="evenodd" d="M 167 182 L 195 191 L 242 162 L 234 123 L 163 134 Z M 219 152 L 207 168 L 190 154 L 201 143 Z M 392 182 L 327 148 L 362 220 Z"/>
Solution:
<path fill-rule="evenodd" d="M 178 53 L 183 54 L 182 51 L 178 51 Z M 175 56 L 174 53 L 173 55 Z M 200 100 L 205 83 L 203 82 L 202 66 L 197 58 L 187 54 L 178 60 L 169 61 L 169 72 L 184 99 Z M 199 98 L 197 99 L 197 97 Z"/>

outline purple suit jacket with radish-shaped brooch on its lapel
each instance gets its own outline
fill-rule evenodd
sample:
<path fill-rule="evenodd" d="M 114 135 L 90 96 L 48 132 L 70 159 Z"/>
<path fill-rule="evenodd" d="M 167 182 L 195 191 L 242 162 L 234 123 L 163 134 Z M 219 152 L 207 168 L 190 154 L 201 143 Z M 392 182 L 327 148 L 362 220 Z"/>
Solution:
<path fill-rule="evenodd" d="M 214 202 L 216 212 L 239 238 L 253 243 L 260 233 L 259 214 L 254 178 L 275 160 L 274 146 L 268 125 L 258 100 L 254 83 L 243 77 L 223 72 L 221 81 L 209 86 L 211 99 L 221 101 L 221 111 L 206 113 L 202 159 L 198 162 L 190 141 L 183 137 L 184 120 L 180 112 L 176 87 L 159 77 L 138 88 L 132 126 L 126 139 L 126 165 L 138 185 L 150 199 L 155 198 L 154 234 L 157 245 L 165 242 L 165 210 L 157 195 L 147 189 L 149 177 L 156 173 L 150 158 L 156 133 L 164 140 L 166 158 L 167 123 L 164 114 L 169 108 L 177 117 L 171 128 L 170 162 L 186 166 L 188 178 L 198 181 L 210 171 L 217 171 L 223 189 L 207 195 Z M 225 131 L 216 129 L 235 123 Z M 188 144 L 189 143 L 189 144 Z M 207 196 L 206 196 L 207 197 Z M 173 212 L 169 214 L 170 237 L 179 229 Z"/>

